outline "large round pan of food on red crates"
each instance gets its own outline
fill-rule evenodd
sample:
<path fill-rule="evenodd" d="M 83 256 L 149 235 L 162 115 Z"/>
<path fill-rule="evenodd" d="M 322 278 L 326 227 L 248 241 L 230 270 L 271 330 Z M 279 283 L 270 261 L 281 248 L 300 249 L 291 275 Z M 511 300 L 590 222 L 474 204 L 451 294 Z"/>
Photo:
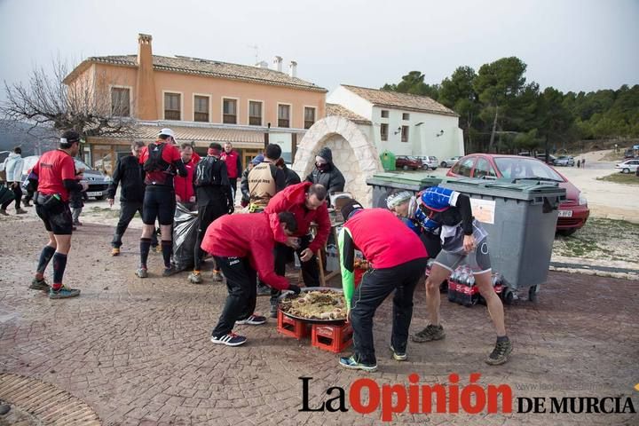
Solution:
<path fill-rule="evenodd" d="M 346 321 L 346 301 L 340 288 L 307 287 L 295 296 L 284 292 L 280 311 L 287 317 L 312 324 L 343 324 Z"/>

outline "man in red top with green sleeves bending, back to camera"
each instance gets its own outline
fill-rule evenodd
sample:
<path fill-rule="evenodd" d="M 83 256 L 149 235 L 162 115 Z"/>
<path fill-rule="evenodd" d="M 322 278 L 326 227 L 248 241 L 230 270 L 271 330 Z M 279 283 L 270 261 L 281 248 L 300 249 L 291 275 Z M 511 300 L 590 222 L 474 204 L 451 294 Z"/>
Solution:
<path fill-rule="evenodd" d="M 387 209 L 363 209 L 353 200 L 343 206 L 342 214 L 346 221 L 339 234 L 342 286 L 353 328 L 354 353 L 339 363 L 372 372 L 377 369 L 373 317 L 393 290 L 390 351 L 394 359 L 406 360 L 414 288 L 426 269 L 428 253 L 419 237 Z M 358 288 L 354 288 L 355 248 L 371 265 Z"/>

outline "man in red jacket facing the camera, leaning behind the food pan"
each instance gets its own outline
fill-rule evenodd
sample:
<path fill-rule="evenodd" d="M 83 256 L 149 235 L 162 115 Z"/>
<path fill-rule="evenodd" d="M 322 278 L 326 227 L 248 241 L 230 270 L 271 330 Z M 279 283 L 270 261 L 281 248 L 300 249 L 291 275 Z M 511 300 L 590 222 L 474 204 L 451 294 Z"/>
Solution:
<path fill-rule="evenodd" d="M 327 190 L 323 185 L 304 182 L 290 185 L 276 193 L 264 210 L 266 213 L 290 211 L 296 217 L 297 232 L 293 235 L 297 243 L 275 244 L 275 273 L 284 276 L 286 264 L 293 258 L 293 249 L 302 264 L 302 277 L 306 287 L 319 287 L 319 248 L 324 247 L 330 233 L 330 217 L 327 209 Z M 317 234 L 312 240 L 311 223 L 317 224 Z M 312 241 L 311 241 L 312 240 Z M 277 317 L 277 297 L 279 292 L 271 292 L 271 317 Z"/>

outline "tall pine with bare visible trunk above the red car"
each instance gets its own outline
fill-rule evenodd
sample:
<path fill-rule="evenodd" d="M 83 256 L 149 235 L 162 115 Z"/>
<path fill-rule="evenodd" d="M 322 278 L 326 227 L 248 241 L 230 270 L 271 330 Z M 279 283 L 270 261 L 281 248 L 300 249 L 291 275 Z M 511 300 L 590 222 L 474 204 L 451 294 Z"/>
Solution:
<path fill-rule="evenodd" d="M 493 130 L 491 131 L 488 151 L 493 150 L 497 123 L 501 114 L 508 114 L 509 103 L 522 91 L 525 84 L 526 65 L 515 57 L 498 59 L 479 68 L 474 89 L 479 100 L 484 104 L 483 116 L 493 116 Z"/>

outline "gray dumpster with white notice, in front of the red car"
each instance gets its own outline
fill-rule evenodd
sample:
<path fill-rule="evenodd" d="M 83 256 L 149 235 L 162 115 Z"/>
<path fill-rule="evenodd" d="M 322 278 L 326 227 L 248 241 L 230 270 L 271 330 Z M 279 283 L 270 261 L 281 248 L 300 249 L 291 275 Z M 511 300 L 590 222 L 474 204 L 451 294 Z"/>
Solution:
<path fill-rule="evenodd" d="M 500 272 L 508 287 L 504 301 L 511 302 L 521 290 L 534 300 L 548 277 L 557 207 L 565 200 L 565 189 L 538 180 L 447 177 L 440 186 L 469 195 L 473 216 L 488 232 L 493 272 Z"/>

